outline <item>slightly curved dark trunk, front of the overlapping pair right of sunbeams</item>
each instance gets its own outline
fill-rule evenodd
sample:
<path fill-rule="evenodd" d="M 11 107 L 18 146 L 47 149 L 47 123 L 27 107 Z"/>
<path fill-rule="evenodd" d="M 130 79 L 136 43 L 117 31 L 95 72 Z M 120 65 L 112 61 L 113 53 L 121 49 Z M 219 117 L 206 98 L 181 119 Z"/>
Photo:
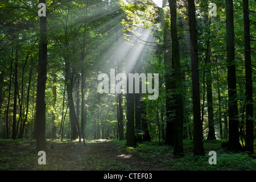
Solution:
<path fill-rule="evenodd" d="M 177 38 L 177 10 L 176 0 L 169 0 L 171 13 L 171 38 L 172 38 L 172 60 L 174 63 L 175 75 L 175 106 L 176 115 L 174 121 L 174 155 L 183 153 L 183 89 L 182 75 L 180 70 L 180 50 Z"/>

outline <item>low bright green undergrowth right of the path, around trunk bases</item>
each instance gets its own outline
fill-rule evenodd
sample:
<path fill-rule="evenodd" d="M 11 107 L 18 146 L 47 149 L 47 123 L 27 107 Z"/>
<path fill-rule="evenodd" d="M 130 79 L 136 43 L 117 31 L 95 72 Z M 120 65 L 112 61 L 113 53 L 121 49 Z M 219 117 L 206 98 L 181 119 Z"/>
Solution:
<path fill-rule="evenodd" d="M 154 163 L 164 163 L 178 171 L 255 171 L 256 160 L 245 152 L 230 152 L 221 148 L 226 140 L 205 140 L 205 156 L 193 156 L 192 140 L 184 140 L 184 156 L 177 157 L 173 147 L 159 146 L 157 141 L 138 143 L 137 147 L 125 146 L 125 140 L 113 140 L 121 150 L 137 154 Z M 209 151 L 216 151 L 217 164 L 209 164 Z"/>

